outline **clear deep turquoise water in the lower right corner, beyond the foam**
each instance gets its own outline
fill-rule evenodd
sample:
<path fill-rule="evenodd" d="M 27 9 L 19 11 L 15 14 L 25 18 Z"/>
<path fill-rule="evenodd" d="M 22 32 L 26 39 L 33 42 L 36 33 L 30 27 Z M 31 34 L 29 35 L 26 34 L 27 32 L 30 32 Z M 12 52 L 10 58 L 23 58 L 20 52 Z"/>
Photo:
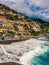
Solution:
<path fill-rule="evenodd" d="M 49 65 L 49 51 L 31 59 L 30 65 Z"/>

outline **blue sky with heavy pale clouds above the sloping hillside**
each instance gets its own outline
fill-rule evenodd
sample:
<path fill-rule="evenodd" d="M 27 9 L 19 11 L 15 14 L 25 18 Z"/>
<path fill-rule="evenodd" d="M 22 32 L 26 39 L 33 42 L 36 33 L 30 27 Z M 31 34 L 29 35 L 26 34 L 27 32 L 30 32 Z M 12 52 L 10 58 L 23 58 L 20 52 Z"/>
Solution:
<path fill-rule="evenodd" d="M 0 3 L 31 18 L 49 22 L 49 0 L 0 0 Z"/>

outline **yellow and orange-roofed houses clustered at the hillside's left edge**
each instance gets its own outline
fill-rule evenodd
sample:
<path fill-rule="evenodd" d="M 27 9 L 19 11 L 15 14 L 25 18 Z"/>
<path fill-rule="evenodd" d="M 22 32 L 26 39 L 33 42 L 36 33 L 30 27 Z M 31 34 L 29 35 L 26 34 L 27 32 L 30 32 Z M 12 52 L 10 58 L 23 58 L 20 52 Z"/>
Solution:
<path fill-rule="evenodd" d="M 0 36 L 6 35 L 8 27 L 10 27 L 10 25 L 6 23 L 6 17 L 0 16 Z"/>

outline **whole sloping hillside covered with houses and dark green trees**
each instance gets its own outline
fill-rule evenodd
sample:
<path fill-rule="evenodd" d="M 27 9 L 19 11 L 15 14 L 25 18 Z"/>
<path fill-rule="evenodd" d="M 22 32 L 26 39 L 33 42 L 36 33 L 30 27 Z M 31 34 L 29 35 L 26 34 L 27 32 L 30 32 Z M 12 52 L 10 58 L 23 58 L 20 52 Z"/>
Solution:
<path fill-rule="evenodd" d="M 0 4 L 0 35 L 49 35 L 49 25 Z"/>

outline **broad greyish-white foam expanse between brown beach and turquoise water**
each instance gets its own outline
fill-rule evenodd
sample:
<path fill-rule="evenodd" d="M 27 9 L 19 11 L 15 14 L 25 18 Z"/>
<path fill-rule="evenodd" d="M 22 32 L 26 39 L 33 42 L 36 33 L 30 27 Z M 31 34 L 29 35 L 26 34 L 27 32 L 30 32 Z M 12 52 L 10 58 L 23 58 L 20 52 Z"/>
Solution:
<path fill-rule="evenodd" d="M 41 50 L 39 45 L 45 42 L 32 38 L 8 45 L 0 45 L 0 62 L 18 62 L 27 65 L 27 61 L 32 56 L 34 57 L 39 52 L 43 52 L 43 49 Z"/>

